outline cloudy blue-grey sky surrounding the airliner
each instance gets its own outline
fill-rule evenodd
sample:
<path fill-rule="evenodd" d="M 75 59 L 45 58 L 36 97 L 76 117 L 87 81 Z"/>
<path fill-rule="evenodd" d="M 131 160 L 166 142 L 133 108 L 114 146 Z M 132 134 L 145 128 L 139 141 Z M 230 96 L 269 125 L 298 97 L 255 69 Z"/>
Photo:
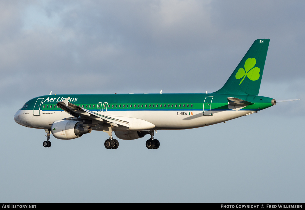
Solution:
<path fill-rule="evenodd" d="M 0 1 L 0 203 L 304 203 L 304 1 Z M 205 93 L 270 39 L 259 95 L 226 123 L 70 141 L 13 116 L 49 94 Z"/>

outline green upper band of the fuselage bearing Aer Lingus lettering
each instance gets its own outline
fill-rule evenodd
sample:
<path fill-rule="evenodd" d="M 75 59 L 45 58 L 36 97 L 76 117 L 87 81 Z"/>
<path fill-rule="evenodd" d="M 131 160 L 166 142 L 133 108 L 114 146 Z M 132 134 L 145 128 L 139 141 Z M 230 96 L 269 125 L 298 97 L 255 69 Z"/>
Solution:
<path fill-rule="evenodd" d="M 212 111 L 230 110 L 228 108 L 228 97 L 235 97 L 254 103 L 241 110 L 259 111 L 270 106 L 272 98 L 255 95 L 229 95 L 229 94 L 64 94 L 64 95 L 45 95 L 31 99 L 27 102 L 28 107 L 20 110 L 33 110 L 38 98 L 44 98 L 40 109 L 43 111 L 61 111 L 57 106 L 59 101 L 63 101 L 70 96 L 70 102 L 75 105 L 84 105 L 84 109 L 97 111 L 99 103 L 107 102 L 107 111 L 125 110 L 203 110 L 203 102 L 206 97 L 213 97 L 211 103 Z M 52 108 L 50 107 L 52 105 Z M 86 105 L 88 105 L 86 107 Z M 91 105 L 91 107 L 89 107 Z M 93 107 L 93 105 L 95 107 Z M 113 105 L 113 107 L 112 107 Z M 117 107 L 116 107 L 117 105 Z M 119 107 L 121 105 L 121 107 Z M 124 107 L 123 107 L 124 105 Z M 128 105 L 128 107 L 127 107 Z M 131 107 L 132 105 L 132 107 Z M 136 105 L 136 107 L 134 107 Z M 139 105 L 139 107 L 138 107 Z M 143 107 L 142 107 L 143 105 Z M 145 107 L 147 105 L 147 107 Z M 149 105 L 151 105 L 149 107 Z M 154 107 L 153 107 L 154 105 Z M 158 105 L 158 107 L 157 107 Z M 162 105 L 162 106 L 161 106 Z M 164 107 L 165 105 L 165 107 Z M 170 107 L 168 107 L 170 105 Z M 173 107 L 172 107 L 173 105 Z M 176 107 L 177 105 L 177 107 Z M 179 107 L 179 105 L 181 105 Z M 184 107 L 183 107 L 184 105 Z M 45 106 L 45 107 L 43 107 Z M 48 107 L 47 107 L 48 106 Z M 110 106 L 110 107 L 109 107 Z"/>

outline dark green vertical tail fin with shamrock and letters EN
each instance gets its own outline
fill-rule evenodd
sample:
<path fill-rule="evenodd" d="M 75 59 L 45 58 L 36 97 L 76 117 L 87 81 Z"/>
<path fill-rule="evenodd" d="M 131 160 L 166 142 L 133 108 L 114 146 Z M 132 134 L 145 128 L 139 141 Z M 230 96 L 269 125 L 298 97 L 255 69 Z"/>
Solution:
<path fill-rule="evenodd" d="M 224 86 L 216 94 L 258 95 L 270 39 L 254 41 Z"/>

